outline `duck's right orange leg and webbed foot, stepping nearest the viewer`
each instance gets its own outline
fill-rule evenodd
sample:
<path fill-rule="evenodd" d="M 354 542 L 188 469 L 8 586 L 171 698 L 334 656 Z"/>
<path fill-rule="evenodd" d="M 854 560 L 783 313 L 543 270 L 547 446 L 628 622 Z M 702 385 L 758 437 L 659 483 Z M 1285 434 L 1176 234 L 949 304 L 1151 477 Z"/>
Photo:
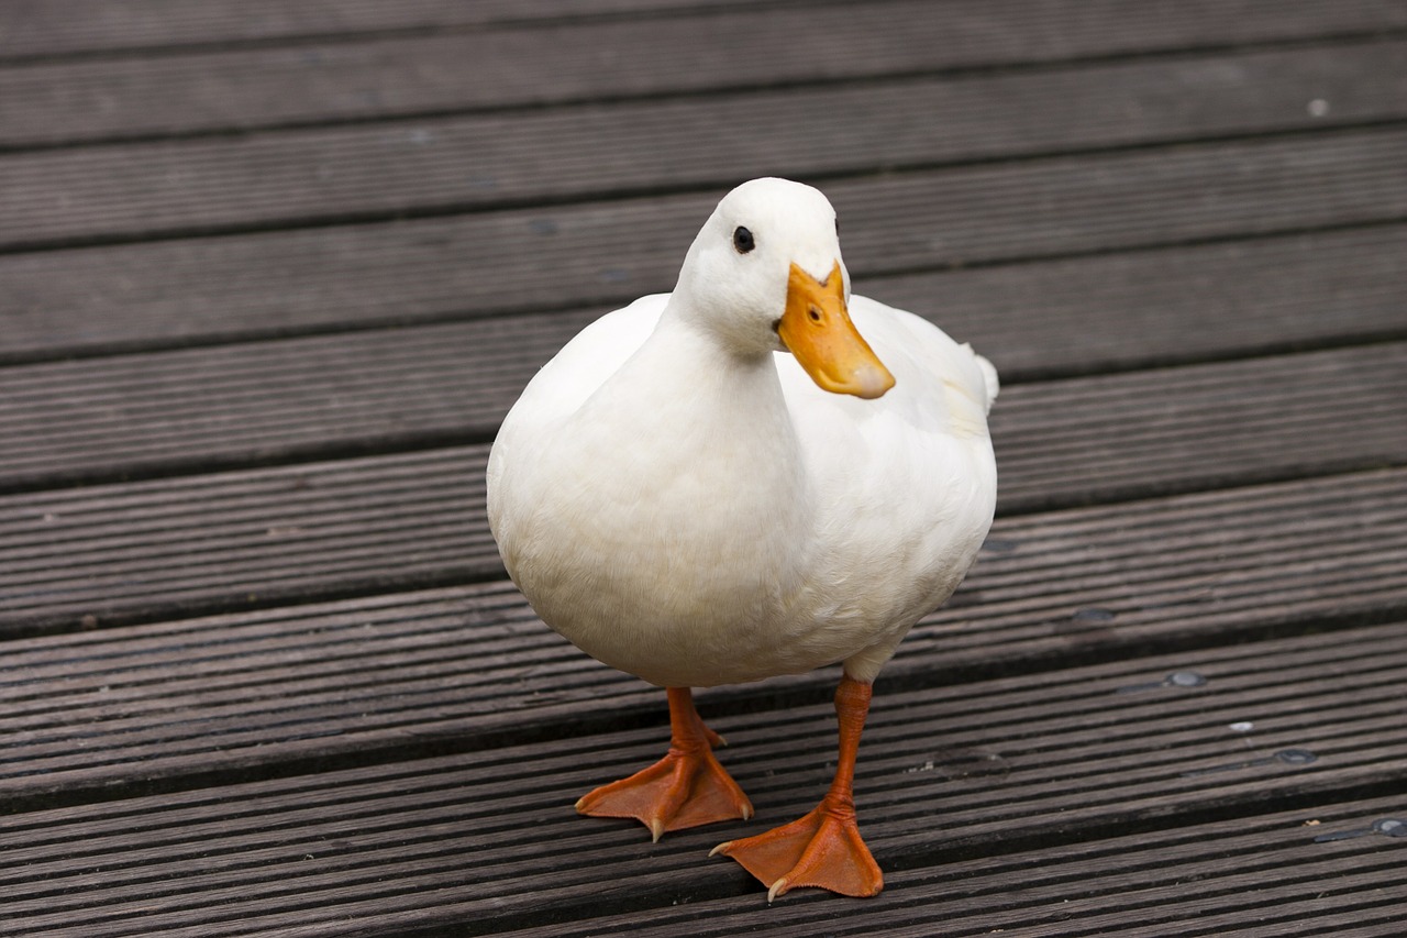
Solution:
<path fill-rule="evenodd" d="M 763 882 L 767 901 L 798 886 L 819 886 L 843 896 L 874 896 L 884 873 L 855 824 L 855 752 L 870 713 L 871 687 L 846 675 L 836 690 L 840 759 L 836 780 L 810 813 L 777 830 L 713 848 L 732 856 Z M 712 853 L 711 853 L 712 856 Z"/>

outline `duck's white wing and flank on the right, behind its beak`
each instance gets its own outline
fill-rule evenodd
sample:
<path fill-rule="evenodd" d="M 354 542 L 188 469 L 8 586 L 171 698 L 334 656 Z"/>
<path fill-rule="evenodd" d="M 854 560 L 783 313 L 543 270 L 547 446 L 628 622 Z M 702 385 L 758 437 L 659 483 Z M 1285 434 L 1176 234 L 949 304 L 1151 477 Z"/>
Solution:
<path fill-rule="evenodd" d="M 833 628 L 865 635 L 846 668 L 870 679 L 951 594 L 992 523 L 986 411 L 998 383 L 986 359 L 926 320 L 865 297 L 851 297 L 850 315 L 895 376 L 884 397 L 826 393 L 791 355 L 777 370 L 815 499 L 808 601 Z"/>

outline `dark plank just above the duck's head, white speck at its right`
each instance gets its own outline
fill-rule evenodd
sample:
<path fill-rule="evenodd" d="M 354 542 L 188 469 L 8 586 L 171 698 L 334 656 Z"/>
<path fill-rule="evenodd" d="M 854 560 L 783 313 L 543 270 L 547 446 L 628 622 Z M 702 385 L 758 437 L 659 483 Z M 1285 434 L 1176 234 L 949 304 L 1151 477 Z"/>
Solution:
<path fill-rule="evenodd" d="M 1345 69 L 1345 62 L 1355 68 Z M 0 158 L 0 244 L 445 214 L 449 208 L 653 192 L 668 185 L 718 186 L 736 177 L 729 172 L 757 176 L 778 166 L 794 175 L 825 177 L 872 166 L 875 139 L 885 141 L 884 166 L 899 169 L 1062 148 L 1352 125 L 1407 117 L 1404 62 L 1407 44 L 1389 42 L 1334 46 L 1317 59 L 1290 52 L 1233 55 L 1086 68 L 1054 77 L 1020 73 L 908 80 L 702 101 L 554 108 L 497 118 L 41 151 Z M 1202 107 L 1188 107 L 1189 99 Z M 1316 117 L 1307 107 L 1314 99 L 1332 100 L 1334 106 Z M 1097 101 L 1097 107 L 1089 101 Z M 1007 120 L 992 118 L 1002 113 L 1009 114 Z M 1130 121 L 1131 113 L 1144 118 Z M 812 128 L 827 121 L 844 125 L 847 132 L 816 146 Z M 561 141 L 581 144 L 573 146 L 567 173 L 546 175 Z M 1304 146 L 1300 141 L 1289 145 Z M 1361 149 L 1354 146 L 1352 154 L 1365 155 Z M 1400 155 L 1400 145 L 1394 149 Z M 1249 165 L 1247 170 L 1269 172 Z M 1372 172 L 1356 165 L 1316 170 Z M 975 185 L 1021 185 L 1019 177 L 991 183 L 986 177 Z M 1297 182 L 1289 173 L 1286 179 Z M 1175 194 L 1178 185 L 1169 179 L 1148 194 Z M 241 197 L 229 199 L 231 190 Z M 975 196 L 993 199 L 981 190 Z M 875 199 L 854 196 L 855 203 Z M 951 196 L 941 193 L 940 199 Z M 931 207 L 915 206 L 910 213 L 923 217 L 931 214 Z M 141 220 L 135 230 L 134 220 Z M 896 221 L 902 224 L 903 215 Z M 664 230 L 677 224 L 674 218 L 661 220 Z"/>

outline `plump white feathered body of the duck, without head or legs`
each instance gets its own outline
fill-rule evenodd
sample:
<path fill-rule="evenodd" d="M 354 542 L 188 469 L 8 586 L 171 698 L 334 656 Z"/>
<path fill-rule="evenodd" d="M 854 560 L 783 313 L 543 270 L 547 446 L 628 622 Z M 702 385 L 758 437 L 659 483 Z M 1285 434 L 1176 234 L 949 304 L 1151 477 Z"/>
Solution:
<path fill-rule="evenodd" d="M 985 363 L 853 297 L 896 384 L 832 394 L 785 352 L 706 349 L 670 300 L 588 327 L 504 421 L 490 518 L 509 573 L 556 631 L 660 686 L 839 661 L 872 680 L 991 524 Z"/>

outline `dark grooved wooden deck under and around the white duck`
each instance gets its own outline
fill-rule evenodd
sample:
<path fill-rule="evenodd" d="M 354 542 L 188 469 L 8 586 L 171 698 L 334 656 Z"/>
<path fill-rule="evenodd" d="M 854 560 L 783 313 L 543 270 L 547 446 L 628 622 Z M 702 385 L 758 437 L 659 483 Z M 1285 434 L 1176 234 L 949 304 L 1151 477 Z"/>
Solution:
<path fill-rule="evenodd" d="M 706 858 L 834 669 L 699 694 L 754 821 L 578 818 L 664 697 L 484 520 L 758 175 L 1005 380 L 868 901 Z M 7 938 L 1403 934 L 1404 0 L 0 0 L 0 327 Z"/>

